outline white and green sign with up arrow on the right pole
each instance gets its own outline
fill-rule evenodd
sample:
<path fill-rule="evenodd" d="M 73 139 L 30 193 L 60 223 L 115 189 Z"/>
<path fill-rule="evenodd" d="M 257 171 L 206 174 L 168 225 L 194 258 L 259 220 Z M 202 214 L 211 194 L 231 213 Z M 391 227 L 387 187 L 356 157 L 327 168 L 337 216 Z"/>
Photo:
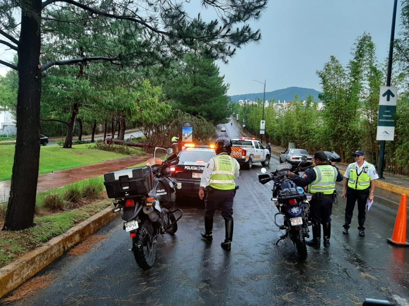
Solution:
<path fill-rule="evenodd" d="M 397 87 L 380 87 L 376 140 L 394 140 L 397 96 Z"/>

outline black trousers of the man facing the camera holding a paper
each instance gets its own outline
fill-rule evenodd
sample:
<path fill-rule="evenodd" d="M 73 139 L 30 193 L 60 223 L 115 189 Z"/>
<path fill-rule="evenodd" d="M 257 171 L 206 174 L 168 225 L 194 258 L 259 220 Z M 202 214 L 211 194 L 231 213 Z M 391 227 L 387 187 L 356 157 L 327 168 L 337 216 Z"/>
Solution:
<path fill-rule="evenodd" d="M 344 228 L 348 230 L 349 224 L 351 224 L 352 215 L 354 213 L 355 202 L 358 203 L 358 230 L 365 230 L 363 223 L 366 219 L 365 208 L 367 206 L 367 200 L 369 197 L 369 191 L 371 188 L 357 190 L 351 187 L 347 187 L 347 207 L 345 208 L 345 224 Z"/>

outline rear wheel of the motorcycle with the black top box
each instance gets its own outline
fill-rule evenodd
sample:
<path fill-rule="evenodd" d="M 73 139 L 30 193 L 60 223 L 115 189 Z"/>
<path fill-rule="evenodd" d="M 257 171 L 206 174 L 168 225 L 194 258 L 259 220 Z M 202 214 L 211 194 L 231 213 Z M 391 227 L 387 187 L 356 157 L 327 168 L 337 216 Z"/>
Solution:
<path fill-rule="evenodd" d="M 156 249 L 153 239 L 153 227 L 149 220 L 138 228 L 137 237 L 132 238 L 133 256 L 138 266 L 145 271 L 152 268 L 155 262 Z"/>

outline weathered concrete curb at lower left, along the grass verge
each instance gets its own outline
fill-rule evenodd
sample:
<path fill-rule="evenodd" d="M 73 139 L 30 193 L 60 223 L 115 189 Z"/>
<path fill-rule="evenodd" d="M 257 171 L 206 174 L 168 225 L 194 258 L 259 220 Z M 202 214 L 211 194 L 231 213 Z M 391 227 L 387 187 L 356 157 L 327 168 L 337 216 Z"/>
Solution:
<path fill-rule="evenodd" d="M 0 298 L 118 216 L 108 207 L 0 269 Z"/>

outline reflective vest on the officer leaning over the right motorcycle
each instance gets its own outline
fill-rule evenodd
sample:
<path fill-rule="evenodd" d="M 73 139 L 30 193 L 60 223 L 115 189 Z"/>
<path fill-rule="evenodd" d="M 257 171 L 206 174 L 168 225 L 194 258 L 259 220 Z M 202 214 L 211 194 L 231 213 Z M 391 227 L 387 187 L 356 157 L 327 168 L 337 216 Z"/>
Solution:
<path fill-rule="evenodd" d="M 308 186 L 308 192 L 333 194 L 335 191 L 336 176 L 338 174 L 336 168 L 331 165 L 318 165 L 313 169 L 316 174 L 316 178 L 314 182 Z"/>

